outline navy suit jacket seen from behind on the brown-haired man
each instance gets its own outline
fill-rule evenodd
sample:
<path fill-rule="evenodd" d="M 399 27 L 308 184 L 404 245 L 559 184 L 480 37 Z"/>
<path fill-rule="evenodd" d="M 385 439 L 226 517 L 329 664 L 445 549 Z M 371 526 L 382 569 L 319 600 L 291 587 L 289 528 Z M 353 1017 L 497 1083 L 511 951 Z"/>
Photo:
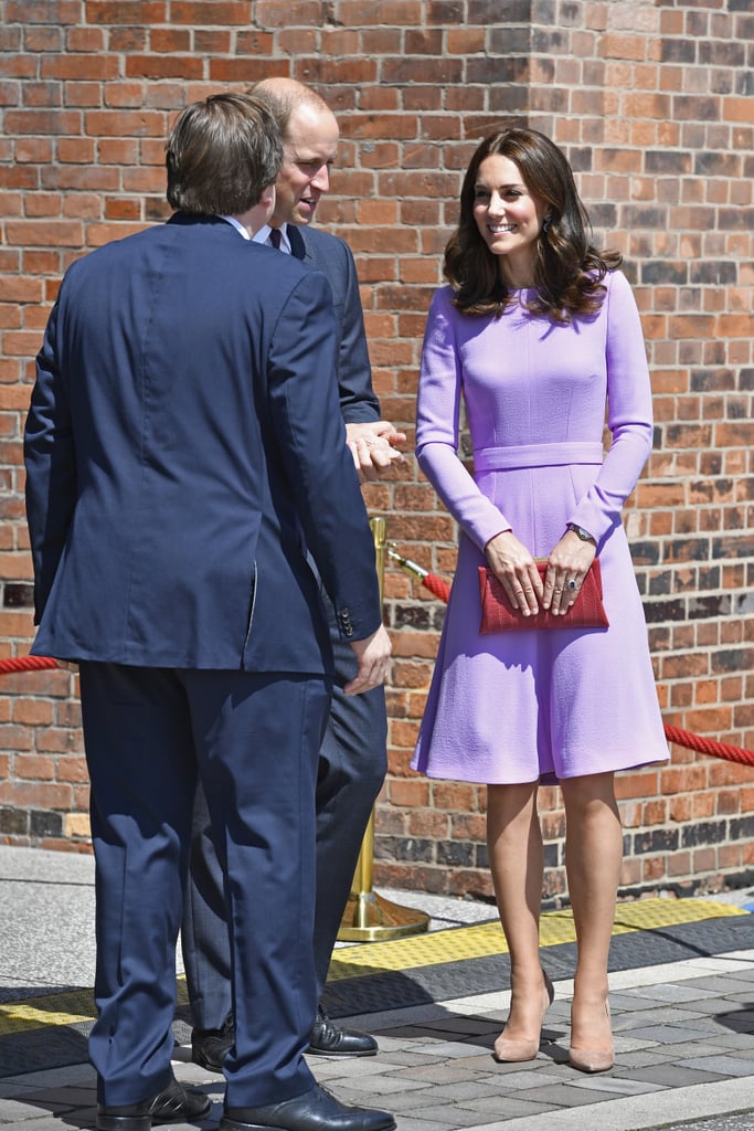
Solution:
<path fill-rule="evenodd" d="M 302 529 L 343 636 L 375 631 L 337 340 L 323 276 L 219 217 L 73 264 L 25 437 L 35 654 L 331 671 Z"/>

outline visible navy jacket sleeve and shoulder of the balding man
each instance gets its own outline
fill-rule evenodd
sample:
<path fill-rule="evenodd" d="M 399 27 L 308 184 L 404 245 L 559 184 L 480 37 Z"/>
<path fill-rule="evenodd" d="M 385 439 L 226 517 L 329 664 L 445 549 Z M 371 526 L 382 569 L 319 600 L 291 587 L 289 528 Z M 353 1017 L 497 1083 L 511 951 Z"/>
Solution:
<path fill-rule="evenodd" d="M 337 235 L 306 225 L 286 225 L 291 254 L 322 271 L 332 287 L 338 321 L 338 391 L 346 424 L 380 420 L 358 294 L 356 265 L 348 244 Z"/>

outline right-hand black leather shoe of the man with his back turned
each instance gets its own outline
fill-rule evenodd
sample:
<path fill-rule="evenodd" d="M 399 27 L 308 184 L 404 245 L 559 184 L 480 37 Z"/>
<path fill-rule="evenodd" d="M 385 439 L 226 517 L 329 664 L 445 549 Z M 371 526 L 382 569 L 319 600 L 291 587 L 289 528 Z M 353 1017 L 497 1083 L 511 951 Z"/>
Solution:
<path fill-rule="evenodd" d="M 219 1131 L 392 1131 L 389 1112 L 341 1104 L 319 1085 L 281 1104 L 228 1107 Z"/>

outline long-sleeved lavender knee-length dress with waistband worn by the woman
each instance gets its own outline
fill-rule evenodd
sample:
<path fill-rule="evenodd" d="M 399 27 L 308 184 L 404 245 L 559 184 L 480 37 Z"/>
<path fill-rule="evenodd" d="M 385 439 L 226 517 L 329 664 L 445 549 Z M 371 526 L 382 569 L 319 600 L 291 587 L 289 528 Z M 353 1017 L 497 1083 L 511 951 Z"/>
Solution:
<path fill-rule="evenodd" d="M 468 317 L 450 287 L 433 297 L 416 451 L 461 536 L 411 761 L 430 777 L 552 783 L 668 758 L 621 523 L 651 447 L 651 389 L 629 284 L 619 271 L 605 283 L 599 313 L 566 326 L 518 304 Z M 461 394 L 474 478 L 457 456 Z M 489 538 L 512 529 L 546 558 L 566 523 L 598 541 L 609 629 L 480 636 L 477 567 Z"/>

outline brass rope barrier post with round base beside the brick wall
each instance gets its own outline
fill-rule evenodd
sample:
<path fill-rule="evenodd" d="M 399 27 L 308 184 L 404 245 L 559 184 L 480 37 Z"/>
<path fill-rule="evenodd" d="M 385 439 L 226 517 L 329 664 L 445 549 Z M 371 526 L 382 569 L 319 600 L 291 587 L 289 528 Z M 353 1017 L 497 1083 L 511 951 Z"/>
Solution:
<path fill-rule="evenodd" d="M 370 519 L 374 538 L 380 598 L 384 596 L 384 563 L 387 556 L 385 520 Z M 430 926 L 426 912 L 413 907 L 401 907 L 372 890 L 374 865 L 374 810 L 366 826 L 362 849 L 356 863 L 354 882 L 346 904 L 346 910 L 338 931 L 339 942 L 376 942 L 382 939 L 398 939 L 418 934 Z"/>

